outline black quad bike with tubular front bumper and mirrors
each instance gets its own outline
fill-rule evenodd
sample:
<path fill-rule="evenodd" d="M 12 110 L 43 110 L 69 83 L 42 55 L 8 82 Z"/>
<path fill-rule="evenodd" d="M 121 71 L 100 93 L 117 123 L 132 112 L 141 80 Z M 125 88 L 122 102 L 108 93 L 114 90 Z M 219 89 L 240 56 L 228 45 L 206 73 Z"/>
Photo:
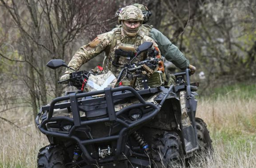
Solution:
<path fill-rule="evenodd" d="M 190 83 L 186 69 L 173 74 L 174 85 L 164 86 L 151 46 L 140 45 L 135 57 L 141 52 L 150 57 L 136 64 L 131 60 L 117 78 L 110 71 L 70 74 L 68 81 L 78 91 L 42 106 L 36 118 L 50 142 L 38 153 L 38 167 L 167 168 L 185 166 L 212 150 L 206 124 L 195 117 L 198 83 Z M 62 60 L 47 66 L 68 67 Z M 134 87 L 121 86 L 125 77 Z"/>

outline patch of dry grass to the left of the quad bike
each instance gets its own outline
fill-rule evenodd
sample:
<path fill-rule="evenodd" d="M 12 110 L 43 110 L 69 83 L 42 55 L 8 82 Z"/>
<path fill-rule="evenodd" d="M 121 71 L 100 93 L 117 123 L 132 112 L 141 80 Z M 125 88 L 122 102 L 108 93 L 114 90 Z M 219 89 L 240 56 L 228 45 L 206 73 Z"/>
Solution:
<path fill-rule="evenodd" d="M 35 127 L 34 119 L 23 110 L 1 114 L 0 117 L 19 126 L 16 128 L 0 119 L 0 167 L 36 167 L 37 153 L 48 142 Z"/>

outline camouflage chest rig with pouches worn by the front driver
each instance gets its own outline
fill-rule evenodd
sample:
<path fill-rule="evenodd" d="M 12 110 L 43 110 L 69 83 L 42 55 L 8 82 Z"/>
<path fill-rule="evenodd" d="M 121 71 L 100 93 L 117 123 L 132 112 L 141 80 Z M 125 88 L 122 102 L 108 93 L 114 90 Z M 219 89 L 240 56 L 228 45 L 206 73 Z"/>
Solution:
<path fill-rule="evenodd" d="M 121 69 L 128 64 L 136 54 L 136 48 L 142 43 L 145 33 L 141 30 L 135 37 L 123 37 L 121 28 L 114 30 L 114 38 L 111 43 L 110 54 L 106 55 L 103 61 L 103 69 L 112 71 L 115 76 L 118 76 Z M 142 61 L 146 58 L 144 53 L 138 55 L 133 63 Z"/>

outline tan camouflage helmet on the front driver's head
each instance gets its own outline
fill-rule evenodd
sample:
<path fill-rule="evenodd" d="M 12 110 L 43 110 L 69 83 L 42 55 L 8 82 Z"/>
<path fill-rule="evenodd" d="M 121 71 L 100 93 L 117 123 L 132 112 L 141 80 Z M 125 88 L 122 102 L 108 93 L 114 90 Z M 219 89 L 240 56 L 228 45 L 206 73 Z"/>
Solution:
<path fill-rule="evenodd" d="M 119 24 L 121 23 L 122 20 L 142 22 L 144 20 L 144 15 L 139 8 L 130 5 L 130 6 L 124 7 L 121 13 L 118 15 Z"/>

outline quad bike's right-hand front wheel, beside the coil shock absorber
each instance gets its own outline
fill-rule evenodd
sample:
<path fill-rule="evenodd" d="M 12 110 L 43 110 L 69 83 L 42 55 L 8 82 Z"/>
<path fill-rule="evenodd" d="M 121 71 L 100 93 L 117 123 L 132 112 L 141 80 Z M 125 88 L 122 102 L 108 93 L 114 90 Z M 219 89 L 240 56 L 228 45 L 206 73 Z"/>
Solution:
<path fill-rule="evenodd" d="M 152 149 L 154 167 L 174 168 L 184 166 L 181 141 L 176 132 L 166 132 L 158 135 Z"/>

